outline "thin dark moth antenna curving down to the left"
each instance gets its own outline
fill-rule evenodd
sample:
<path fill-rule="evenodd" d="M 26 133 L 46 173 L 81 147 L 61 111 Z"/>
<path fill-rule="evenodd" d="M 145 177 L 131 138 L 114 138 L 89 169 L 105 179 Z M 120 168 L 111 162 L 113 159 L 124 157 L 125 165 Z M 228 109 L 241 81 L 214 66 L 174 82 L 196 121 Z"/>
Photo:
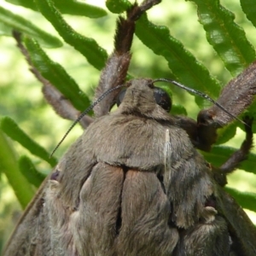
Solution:
<path fill-rule="evenodd" d="M 78 119 L 76 119 L 73 124 L 68 128 L 67 132 L 65 133 L 65 135 L 61 138 L 61 141 L 57 144 L 57 146 L 54 148 L 54 150 L 52 151 L 52 153 L 49 155 L 49 158 L 51 158 L 53 156 L 53 154 L 55 154 L 55 151 L 61 146 L 61 143 L 63 143 L 63 141 L 65 140 L 65 138 L 67 137 L 68 133 L 73 129 L 73 127 L 79 123 L 79 121 L 84 117 L 85 114 L 89 113 L 89 111 L 94 108 L 99 102 L 101 102 L 103 100 L 103 98 L 105 96 L 108 96 L 109 93 L 111 93 L 113 90 L 117 90 L 121 87 L 124 87 L 124 84 L 115 86 L 113 88 L 110 88 L 109 90 L 106 90 L 101 96 L 99 96 L 95 102 L 93 102 L 90 107 L 86 108 L 84 110 L 83 113 L 81 113 L 78 117 Z"/>

